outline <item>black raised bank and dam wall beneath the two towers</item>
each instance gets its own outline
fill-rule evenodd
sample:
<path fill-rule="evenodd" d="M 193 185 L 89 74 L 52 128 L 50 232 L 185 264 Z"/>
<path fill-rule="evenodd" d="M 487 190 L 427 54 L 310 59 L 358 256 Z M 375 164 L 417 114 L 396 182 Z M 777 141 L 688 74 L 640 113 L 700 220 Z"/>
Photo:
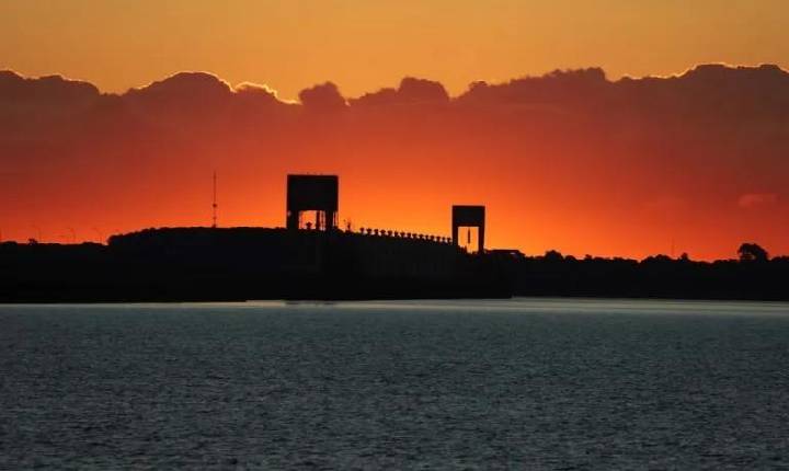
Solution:
<path fill-rule="evenodd" d="M 3 301 L 508 297 L 485 255 L 340 230 L 148 229 L 107 245 L 3 244 Z M 5 278 L 3 276 L 3 278 Z"/>

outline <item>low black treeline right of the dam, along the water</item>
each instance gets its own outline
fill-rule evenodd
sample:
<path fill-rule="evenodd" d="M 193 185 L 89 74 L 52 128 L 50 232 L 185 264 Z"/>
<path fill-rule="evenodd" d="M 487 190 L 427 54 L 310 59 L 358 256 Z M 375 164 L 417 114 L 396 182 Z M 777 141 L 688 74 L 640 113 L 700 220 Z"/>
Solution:
<path fill-rule="evenodd" d="M 754 243 L 742 244 L 737 255 L 714 262 L 687 254 L 636 261 L 549 251 L 513 259 L 507 266 L 516 296 L 789 300 L 789 257 L 769 259 Z"/>

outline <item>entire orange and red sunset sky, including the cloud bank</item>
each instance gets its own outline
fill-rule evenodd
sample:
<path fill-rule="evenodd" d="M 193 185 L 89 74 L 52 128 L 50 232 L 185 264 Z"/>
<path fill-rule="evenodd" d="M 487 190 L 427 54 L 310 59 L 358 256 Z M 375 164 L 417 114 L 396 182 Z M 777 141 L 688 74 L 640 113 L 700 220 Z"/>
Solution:
<path fill-rule="evenodd" d="M 356 227 L 448 236 L 479 203 L 527 254 L 787 254 L 787 27 L 753 0 L 1 1 L 0 237 L 207 225 L 214 171 L 221 225 L 279 226 L 315 172 Z"/>

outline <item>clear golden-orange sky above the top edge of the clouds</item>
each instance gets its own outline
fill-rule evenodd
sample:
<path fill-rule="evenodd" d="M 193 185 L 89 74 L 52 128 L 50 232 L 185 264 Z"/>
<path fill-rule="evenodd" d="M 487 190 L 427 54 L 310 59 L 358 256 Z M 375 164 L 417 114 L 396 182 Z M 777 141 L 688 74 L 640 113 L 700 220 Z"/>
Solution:
<path fill-rule="evenodd" d="M 209 70 L 284 99 L 325 80 L 354 96 L 403 76 L 459 93 L 557 68 L 789 66 L 787 28 L 785 0 L 4 0 L 0 68 L 114 92 Z"/>

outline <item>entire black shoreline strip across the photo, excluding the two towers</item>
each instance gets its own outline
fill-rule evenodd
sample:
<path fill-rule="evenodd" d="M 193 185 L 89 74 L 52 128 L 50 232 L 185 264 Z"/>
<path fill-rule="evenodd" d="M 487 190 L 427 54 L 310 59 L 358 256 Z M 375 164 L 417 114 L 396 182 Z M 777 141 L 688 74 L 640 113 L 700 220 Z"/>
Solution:
<path fill-rule="evenodd" d="M 642 261 L 549 251 L 469 255 L 427 239 L 179 228 L 107 245 L 0 244 L 0 302 L 409 299 L 508 296 L 789 300 L 789 257 Z"/>

